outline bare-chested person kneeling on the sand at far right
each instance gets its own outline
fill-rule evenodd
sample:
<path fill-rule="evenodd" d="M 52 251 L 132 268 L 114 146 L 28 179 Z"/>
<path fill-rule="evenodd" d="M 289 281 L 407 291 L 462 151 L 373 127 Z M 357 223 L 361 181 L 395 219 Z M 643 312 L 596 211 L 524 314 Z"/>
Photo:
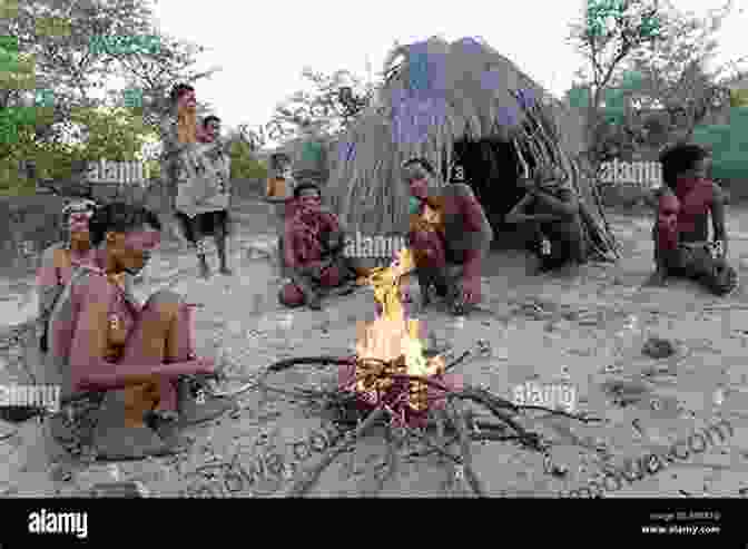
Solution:
<path fill-rule="evenodd" d="M 725 196 L 706 178 L 709 154 L 697 145 L 679 145 L 666 150 L 660 163 L 666 185 L 652 227 L 656 272 L 650 283 L 661 285 L 669 276 L 682 276 L 715 295 L 727 295 L 737 287 L 738 275 L 726 261 Z M 709 243 L 709 214 L 713 243 Z"/>

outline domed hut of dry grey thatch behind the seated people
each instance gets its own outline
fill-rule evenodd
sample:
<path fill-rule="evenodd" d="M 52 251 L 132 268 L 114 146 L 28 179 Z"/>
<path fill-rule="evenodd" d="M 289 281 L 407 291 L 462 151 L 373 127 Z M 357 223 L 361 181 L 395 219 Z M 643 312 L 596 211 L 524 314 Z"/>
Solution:
<path fill-rule="evenodd" d="M 414 82 L 415 72 L 427 73 L 425 85 Z M 404 138 L 419 134 L 417 128 L 416 138 Z M 581 130 L 581 121 L 560 101 L 489 46 L 432 38 L 390 56 L 377 104 L 339 138 L 326 195 L 352 231 L 402 235 L 409 220 L 402 163 L 423 156 L 444 179 L 459 159 L 498 242 L 516 244 L 511 237 L 516 228 L 503 220 L 523 196 L 516 179 L 554 166 L 582 198 L 594 255 L 614 258 L 616 241 L 599 195 L 574 159 Z"/>

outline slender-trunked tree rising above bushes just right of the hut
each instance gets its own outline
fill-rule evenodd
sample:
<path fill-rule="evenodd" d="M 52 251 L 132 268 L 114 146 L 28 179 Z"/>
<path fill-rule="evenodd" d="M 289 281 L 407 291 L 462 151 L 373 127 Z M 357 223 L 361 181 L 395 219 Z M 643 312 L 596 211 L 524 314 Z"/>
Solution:
<path fill-rule="evenodd" d="M 570 41 L 589 61 L 582 72 L 589 82 L 585 145 L 588 158 L 597 168 L 604 154 L 599 137 L 610 131 L 601 112 L 606 90 L 628 56 L 661 39 L 666 18 L 658 0 L 588 0 L 582 21 L 571 29 Z"/>

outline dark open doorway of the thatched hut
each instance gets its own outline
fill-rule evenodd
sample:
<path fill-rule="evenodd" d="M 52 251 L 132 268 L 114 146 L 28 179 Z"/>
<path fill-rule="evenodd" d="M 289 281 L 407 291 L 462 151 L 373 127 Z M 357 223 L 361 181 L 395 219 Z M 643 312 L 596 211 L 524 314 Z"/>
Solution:
<path fill-rule="evenodd" d="M 465 177 L 493 227 L 493 247 L 524 249 L 531 232 L 504 222 L 525 194 L 516 184 L 522 168 L 514 147 L 501 139 L 460 140 L 454 144 L 454 156 L 464 167 Z"/>

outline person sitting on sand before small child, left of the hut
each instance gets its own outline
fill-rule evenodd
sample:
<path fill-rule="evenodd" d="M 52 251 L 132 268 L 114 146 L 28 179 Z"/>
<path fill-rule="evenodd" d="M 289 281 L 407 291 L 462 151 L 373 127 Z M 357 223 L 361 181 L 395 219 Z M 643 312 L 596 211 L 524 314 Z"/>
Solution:
<path fill-rule="evenodd" d="M 278 298 L 288 307 L 304 304 L 322 310 L 322 294 L 351 281 L 343 255 L 345 234 L 337 217 L 323 212 L 319 187 L 301 183 L 294 189 L 296 207 L 286 220 L 284 259 L 288 281 Z M 347 286 L 346 286 L 347 287 Z"/>

